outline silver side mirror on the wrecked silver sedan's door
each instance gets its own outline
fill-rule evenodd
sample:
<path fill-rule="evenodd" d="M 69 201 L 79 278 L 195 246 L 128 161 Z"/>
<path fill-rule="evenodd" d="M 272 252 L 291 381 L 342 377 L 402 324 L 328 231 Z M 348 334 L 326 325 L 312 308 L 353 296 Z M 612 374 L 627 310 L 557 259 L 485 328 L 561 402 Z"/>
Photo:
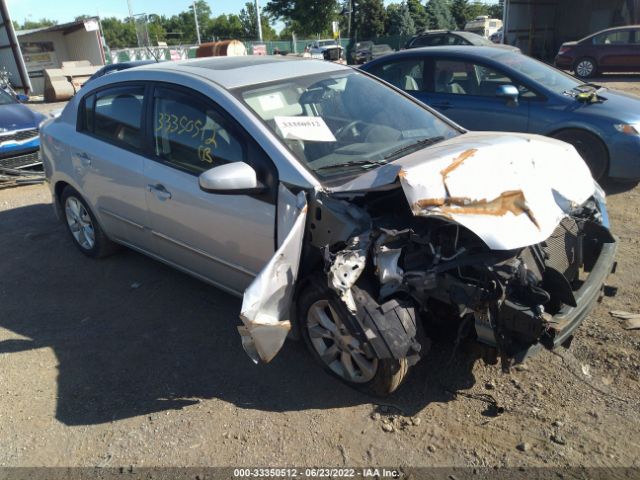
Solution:
<path fill-rule="evenodd" d="M 213 167 L 198 177 L 200 189 L 207 193 L 241 195 L 264 191 L 256 171 L 244 162 L 232 162 Z"/>

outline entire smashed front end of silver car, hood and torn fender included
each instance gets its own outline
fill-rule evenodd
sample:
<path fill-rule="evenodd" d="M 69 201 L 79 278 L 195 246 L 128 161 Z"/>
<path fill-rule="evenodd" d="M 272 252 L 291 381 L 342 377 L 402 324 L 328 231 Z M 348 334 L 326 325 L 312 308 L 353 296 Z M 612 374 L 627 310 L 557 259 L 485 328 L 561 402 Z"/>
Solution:
<path fill-rule="evenodd" d="M 604 193 L 567 144 L 474 133 L 471 148 L 467 139 L 332 189 L 295 195 L 281 185 L 279 248 L 242 306 L 255 361 L 281 348 L 310 278 L 325 290 L 313 299 L 310 343 L 350 381 L 373 378 L 359 376 L 350 355 L 362 372 L 378 361 L 415 364 L 434 323 L 454 326 L 456 344 L 488 346 L 505 369 L 571 342 L 615 269 Z M 529 157 L 515 160 L 525 147 Z M 348 372 L 331 366 L 338 357 Z"/>

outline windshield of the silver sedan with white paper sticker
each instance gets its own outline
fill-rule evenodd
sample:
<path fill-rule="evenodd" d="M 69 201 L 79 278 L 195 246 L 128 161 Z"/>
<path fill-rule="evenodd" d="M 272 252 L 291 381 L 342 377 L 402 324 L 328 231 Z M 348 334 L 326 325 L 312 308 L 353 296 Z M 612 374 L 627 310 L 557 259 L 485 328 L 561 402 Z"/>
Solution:
<path fill-rule="evenodd" d="M 316 176 L 357 175 L 460 132 L 359 72 L 234 91 Z"/>

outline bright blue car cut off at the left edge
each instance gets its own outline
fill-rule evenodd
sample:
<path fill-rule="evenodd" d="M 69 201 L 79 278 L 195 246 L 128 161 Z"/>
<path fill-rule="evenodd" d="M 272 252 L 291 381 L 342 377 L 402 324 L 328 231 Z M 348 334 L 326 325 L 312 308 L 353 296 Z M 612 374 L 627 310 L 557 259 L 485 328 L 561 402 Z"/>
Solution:
<path fill-rule="evenodd" d="M 38 126 L 45 118 L 0 89 L 0 168 L 19 169 L 40 163 Z"/>

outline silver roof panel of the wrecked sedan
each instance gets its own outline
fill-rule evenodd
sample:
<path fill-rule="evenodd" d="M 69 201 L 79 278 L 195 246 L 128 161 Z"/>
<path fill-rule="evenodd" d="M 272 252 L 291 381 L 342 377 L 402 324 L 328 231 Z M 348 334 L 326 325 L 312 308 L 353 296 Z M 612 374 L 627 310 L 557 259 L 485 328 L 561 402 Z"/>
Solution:
<path fill-rule="evenodd" d="M 205 77 L 226 89 L 327 72 L 353 70 L 333 62 L 279 55 L 206 57 L 181 62 L 161 62 L 138 70 L 183 71 Z"/>

